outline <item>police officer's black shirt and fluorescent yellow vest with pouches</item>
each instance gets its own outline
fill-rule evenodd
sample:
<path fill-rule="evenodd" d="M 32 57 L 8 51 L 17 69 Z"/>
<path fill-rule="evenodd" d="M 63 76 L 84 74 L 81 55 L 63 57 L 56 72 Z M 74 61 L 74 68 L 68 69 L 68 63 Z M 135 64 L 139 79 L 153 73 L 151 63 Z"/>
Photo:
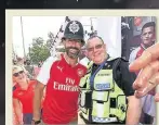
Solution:
<path fill-rule="evenodd" d="M 127 97 L 133 96 L 135 74 L 123 59 L 108 58 L 103 64 L 91 64 L 80 80 L 80 116 L 87 124 L 125 123 Z"/>

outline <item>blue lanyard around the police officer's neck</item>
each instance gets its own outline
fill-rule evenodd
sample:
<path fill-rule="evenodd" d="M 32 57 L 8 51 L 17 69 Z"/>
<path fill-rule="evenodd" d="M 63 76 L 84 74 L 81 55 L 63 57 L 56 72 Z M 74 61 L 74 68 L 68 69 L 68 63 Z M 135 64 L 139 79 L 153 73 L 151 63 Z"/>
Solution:
<path fill-rule="evenodd" d="M 91 77 L 90 77 L 90 87 L 91 87 L 91 90 L 93 90 L 93 84 L 94 84 L 94 77 L 95 77 L 95 75 L 97 74 L 97 72 L 100 71 L 100 70 L 102 70 L 103 68 L 103 66 L 105 65 L 105 63 L 107 62 L 107 59 L 97 67 L 97 70 L 91 75 Z"/>

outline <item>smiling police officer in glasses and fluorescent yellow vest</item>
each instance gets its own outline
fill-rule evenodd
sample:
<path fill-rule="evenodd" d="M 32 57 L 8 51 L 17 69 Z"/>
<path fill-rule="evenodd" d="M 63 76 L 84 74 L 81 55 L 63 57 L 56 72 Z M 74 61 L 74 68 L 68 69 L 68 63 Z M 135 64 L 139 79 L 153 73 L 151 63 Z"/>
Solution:
<path fill-rule="evenodd" d="M 120 58 L 109 58 L 106 45 L 98 36 L 88 40 L 87 49 L 92 63 L 80 80 L 78 123 L 137 125 L 141 100 L 134 96 L 135 74 L 129 72 L 129 63 Z"/>

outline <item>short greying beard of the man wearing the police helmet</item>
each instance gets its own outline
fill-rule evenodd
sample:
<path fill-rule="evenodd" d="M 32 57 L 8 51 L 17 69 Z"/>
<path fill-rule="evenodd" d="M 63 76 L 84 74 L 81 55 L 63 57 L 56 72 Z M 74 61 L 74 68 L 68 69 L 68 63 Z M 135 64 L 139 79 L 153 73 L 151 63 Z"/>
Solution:
<path fill-rule="evenodd" d="M 76 49 L 76 52 L 71 52 L 70 49 Z M 65 50 L 67 55 L 71 59 L 77 59 L 79 57 L 80 50 L 76 47 L 68 47 L 68 48 L 65 48 Z"/>

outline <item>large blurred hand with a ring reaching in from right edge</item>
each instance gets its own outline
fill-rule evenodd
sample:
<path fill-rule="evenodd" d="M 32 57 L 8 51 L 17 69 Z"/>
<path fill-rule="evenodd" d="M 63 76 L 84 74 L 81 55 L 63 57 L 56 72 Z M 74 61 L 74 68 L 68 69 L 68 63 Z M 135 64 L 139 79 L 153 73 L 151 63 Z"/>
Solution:
<path fill-rule="evenodd" d="M 129 66 L 131 72 L 142 70 L 133 83 L 135 96 L 142 98 L 159 84 L 159 43 L 146 49 L 143 54 Z M 159 101 L 159 93 L 155 100 Z"/>

